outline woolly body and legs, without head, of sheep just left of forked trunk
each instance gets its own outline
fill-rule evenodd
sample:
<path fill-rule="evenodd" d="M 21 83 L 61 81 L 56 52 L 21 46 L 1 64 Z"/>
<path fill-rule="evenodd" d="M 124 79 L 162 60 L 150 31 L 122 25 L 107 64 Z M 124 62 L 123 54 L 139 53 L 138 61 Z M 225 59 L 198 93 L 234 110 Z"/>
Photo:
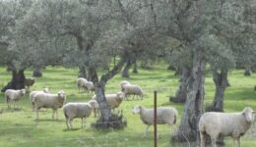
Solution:
<path fill-rule="evenodd" d="M 75 118 L 82 119 L 82 128 L 84 127 L 84 119 L 89 118 L 92 112 L 90 103 L 67 103 L 63 107 L 66 124 L 68 129 L 72 128 L 72 121 Z"/>

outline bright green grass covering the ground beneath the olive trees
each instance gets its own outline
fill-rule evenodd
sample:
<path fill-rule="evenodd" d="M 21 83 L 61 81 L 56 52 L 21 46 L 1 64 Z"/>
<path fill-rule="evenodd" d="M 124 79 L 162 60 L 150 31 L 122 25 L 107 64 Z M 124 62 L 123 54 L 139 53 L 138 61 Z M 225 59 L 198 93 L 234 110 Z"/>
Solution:
<path fill-rule="evenodd" d="M 174 95 L 179 84 L 178 76 L 167 71 L 166 65 L 157 65 L 153 70 L 139 70 L 138 74 L 131 73 L 130 78 L 122 78 L 117 74 L 108 81 L 106 93 L 115 93 L 120 90 L 119 82 L 129 80 L 139 84 L 145 90 L 147 97 L 144 100 L 123 101 L 119 110 L 123 110 L 128 125 L 123 130 L 96 130 L 91 123 L 96 121 L 93 115 L 86 121 L 86 127 L 81 129 L 81 120 L 74 120 L 75 129 L 67 130 L 62 109 L 58 111 L 58 121 L 51 120 L 51 110 L 40 112 L 40 120 L 35 122 L 35 113 L 29 100 L 29 93 L 18 102 L 20 109 L 7 109 L 4 94 L 0 94 L 0 146 L 3 147 L 150 147 L 154 146 L 153 126 L 148 136 L 142 138 L 145 125 L 141 122 L 139 115 L 133 115 L 131 109 L 134 105 L 153 107 L 153 91 L 158 90 L 158 105 L 170 105 L 177 108 L 180 122 L 183 105 L 169 103 L 168 96 Z M 52 93 L 63 89 L 67 93 L 66 102 L 87 102 L 92 96 L 87 93 L 79 93 L 75 80 L 78 69 L 65 69 L 62 67 L 47 67 L 43 70 L 43 76 L 36 79 L 31 90 L 39 90 L 44 87 L 50 88 Z M 32 75 L 32 70 L 26 71 L 27 76 Z M 11 78 L 4 67 L 0 67 L 0 86 L 5 85 Z M 232 71 L 228 76 L 230 87 L 226 89 L 224 97 L 225 112 L 239 112 L 244 107 L 250 106 L 256 110 L 256 74 L 243 76 L 243 71 Z M 215 85 L 211 73 L 206 78 L 205 104 L 211 104 L 215 93 Z M 184 144 L 171 144 L 170 133 L 173 133 L 178 125 L 158 125 L 160 147 L 186 147 Z M 225 138 L 226 146 L 231 146 L 232 140 Z M 256 146 L 256 125 L 253 124 L 246 135 L 242 137 L 242 145 L 245 147 Z"/>

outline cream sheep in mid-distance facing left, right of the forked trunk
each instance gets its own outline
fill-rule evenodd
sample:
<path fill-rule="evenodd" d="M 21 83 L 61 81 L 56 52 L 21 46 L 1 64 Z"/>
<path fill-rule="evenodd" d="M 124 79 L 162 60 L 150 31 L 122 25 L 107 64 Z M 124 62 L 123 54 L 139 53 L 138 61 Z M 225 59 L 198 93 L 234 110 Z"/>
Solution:
<path fill-rule="evenodd" d="M 134 99 L 135 95 L 137 95 L 137 97 L 140 96 L 141 99 L 143 99 L 143 97 L 144 97 L 144 92 L 143 92 L 142 88 L 138 85 L 125 84 L 123 86 L 123 92 L 125 94 L 126 99 L 127 99 L 127 96 L 131 95 L 131 94 L 133 94 L 133 99 Z"/>

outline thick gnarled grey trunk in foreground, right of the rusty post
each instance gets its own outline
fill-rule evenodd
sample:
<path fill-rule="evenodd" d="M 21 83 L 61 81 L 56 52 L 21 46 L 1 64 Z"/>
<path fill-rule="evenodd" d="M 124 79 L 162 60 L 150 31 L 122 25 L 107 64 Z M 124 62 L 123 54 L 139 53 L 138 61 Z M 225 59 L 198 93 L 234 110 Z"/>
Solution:
<path fill-rule="evenodd" d="M 187 100 L 178 131 L 171 137 L 177 142 L 199 139 L 198 122 L 205 96 L 205 62 L 200 51 L 193 51 L 193 68 L 189 76 Z M 199 142 L 199 140 L 198 140 Z"/>

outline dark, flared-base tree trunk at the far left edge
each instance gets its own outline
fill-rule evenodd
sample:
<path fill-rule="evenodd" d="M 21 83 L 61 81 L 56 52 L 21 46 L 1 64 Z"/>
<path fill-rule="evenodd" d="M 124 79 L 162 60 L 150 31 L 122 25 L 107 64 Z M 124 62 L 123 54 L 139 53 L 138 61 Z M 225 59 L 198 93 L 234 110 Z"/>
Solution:
<path fill-rule="evenodd" d="M 5 92 L 7 89 L 23 89 L 25 88 L 25 70 L 16 70 L 12 69 L 12 80 L 8 82 L 6 86 L 4 86 L 1 91 Z"/>

